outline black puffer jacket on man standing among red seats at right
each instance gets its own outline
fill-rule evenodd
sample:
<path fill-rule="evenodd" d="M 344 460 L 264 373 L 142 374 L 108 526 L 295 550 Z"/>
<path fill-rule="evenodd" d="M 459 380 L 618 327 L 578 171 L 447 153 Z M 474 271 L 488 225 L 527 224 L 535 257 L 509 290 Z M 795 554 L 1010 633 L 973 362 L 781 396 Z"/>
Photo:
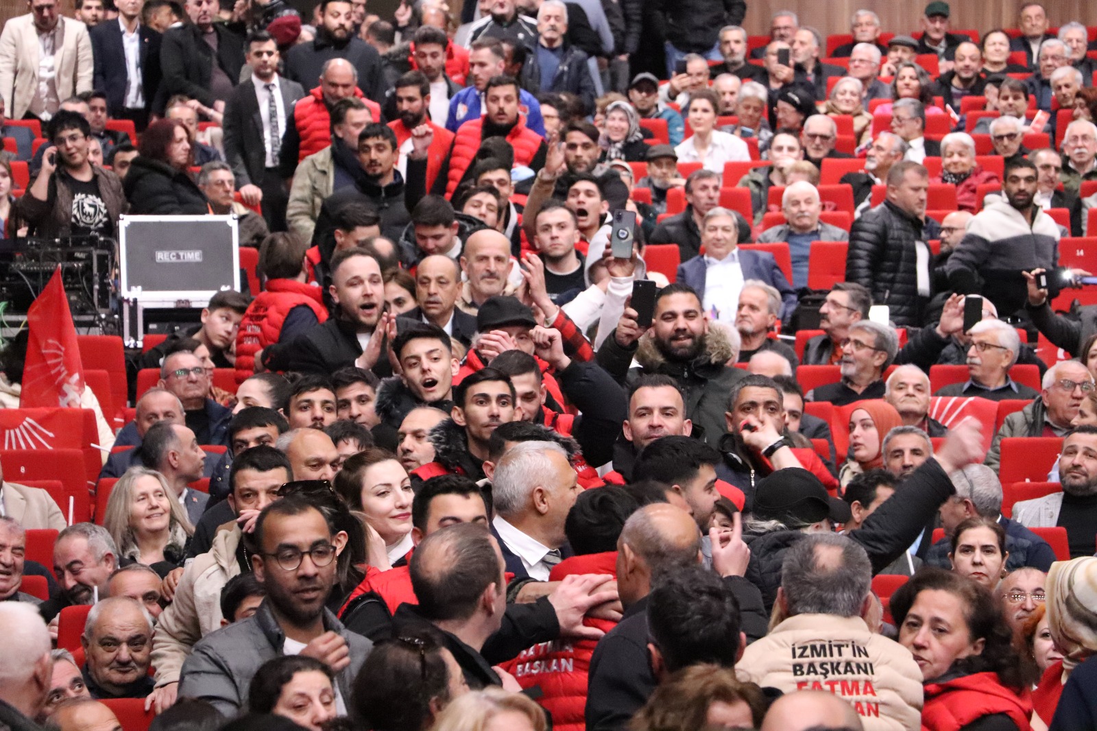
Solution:
<path fill-rule="evenodd" d="M 940 226 L 932 218 L 923 224 L 884 201 L 853 222 L 846 281 L 867 286 L 872 292 L 872 304 L 887 305 L 896 327 L 919 326 L 928 297 L 918 296 L 915 241 L 939 235 Z"/>

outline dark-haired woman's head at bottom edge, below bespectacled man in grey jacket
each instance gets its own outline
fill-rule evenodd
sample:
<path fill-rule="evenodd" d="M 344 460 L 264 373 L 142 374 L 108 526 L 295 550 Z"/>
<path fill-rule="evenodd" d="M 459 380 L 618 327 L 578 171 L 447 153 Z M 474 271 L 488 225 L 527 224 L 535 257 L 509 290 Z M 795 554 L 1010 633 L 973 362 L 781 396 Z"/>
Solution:
<path fill-rule="evenodd" d="M 248 688 L 248 710 L 273 713 L 308 731 L 321 731 L 338 715 L 331 668 L 305 655 L 269 660 L 256 672 Z"/>

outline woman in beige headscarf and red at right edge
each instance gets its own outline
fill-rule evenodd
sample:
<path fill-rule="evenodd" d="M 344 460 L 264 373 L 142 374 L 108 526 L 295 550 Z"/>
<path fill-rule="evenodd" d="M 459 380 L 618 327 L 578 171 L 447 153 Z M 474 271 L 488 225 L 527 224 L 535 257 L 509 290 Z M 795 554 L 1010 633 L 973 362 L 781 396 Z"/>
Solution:
<path fill-rule="evenodd" d="M 1044 585 L 1048 596 L 1048 629 L 1063 654 L 1052 663 L 1032 691 L 1032 723 L 1051 726 L 1059 697 L 1071 673 L 1083 661 L 1097 654 L 1097 558 L 1056 561 Z"/>

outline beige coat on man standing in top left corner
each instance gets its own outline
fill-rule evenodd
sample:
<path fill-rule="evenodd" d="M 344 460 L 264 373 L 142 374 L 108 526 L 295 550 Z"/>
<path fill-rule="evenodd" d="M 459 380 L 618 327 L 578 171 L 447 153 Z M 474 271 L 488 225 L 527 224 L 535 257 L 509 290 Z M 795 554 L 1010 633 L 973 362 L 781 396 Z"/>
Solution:
<path fill-rule="evenodd" d="M 61 18 L 64 40 L 55 55 L 57 100 L 91 91 L 91 38 L 88 26 L 71 18 Z M 38 91 L 38 34 L 31 13 L 12 18 L 0 33 L 0 93 L 4 111 L 20 120 Z"/>

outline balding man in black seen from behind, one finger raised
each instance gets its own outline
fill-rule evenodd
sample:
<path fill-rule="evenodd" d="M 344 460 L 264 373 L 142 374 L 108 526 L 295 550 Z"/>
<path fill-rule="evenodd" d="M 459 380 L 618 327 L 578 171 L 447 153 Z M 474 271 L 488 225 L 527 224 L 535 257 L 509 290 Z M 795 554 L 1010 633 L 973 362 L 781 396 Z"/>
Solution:
<path fill-rule="evenodd" d="M 746 548 L 742 530 L 713 535 L 713 567 L 739 603 L 739 623 L 747 638 L 766 633 L 768 618 L 758 588 L 743 578 L 734 559 Z M 655 690 L 647 652 L 647 597 L 653 578 L 697 565 L 701 535 L 693 517 L 666 503 L 647 505 L 630 516 L 618 540 L 618 593 L 624 605 L 621 622 L 603 637 L 590 660 L 586 718 L 588 729 L 623 728 Z M 743 566 L 745 571 L 745 564 Z"/>

